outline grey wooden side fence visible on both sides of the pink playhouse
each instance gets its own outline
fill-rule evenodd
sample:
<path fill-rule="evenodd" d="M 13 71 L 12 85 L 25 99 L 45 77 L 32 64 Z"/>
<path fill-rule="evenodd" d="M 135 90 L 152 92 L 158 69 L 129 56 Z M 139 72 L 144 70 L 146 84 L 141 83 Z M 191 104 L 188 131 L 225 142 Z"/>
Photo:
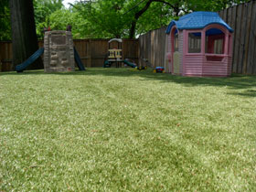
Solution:
<path fill-rule="evenodd" d="M 219 11 L 219 16 L 234 29 L 232 72 L 256 75 L 256 1 Z M 165 66 L 165 29 L 149 31 L 139 37 L 140 62 Z"/>

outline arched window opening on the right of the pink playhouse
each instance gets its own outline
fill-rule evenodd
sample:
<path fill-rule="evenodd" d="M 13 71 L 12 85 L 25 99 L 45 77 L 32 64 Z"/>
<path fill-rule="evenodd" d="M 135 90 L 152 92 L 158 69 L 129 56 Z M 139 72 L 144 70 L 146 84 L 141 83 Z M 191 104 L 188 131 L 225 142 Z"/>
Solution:
<path fill-rule="evenodd" d="M 206 31 L 206 53 L 224 54 L 225 34 L 218 28 Z"/>

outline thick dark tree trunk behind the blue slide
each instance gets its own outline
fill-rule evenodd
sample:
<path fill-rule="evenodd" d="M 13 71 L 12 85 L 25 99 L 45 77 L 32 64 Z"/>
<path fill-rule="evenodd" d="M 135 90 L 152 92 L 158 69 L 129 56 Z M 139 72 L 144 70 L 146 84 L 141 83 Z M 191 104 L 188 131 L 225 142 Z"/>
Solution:
<path fill-rule="evenodd" d="M 10 0 L 13 65 L 28 59 L 38 49 L 33 0 Z M 28 69 L 43 69 L 37 59 Z"/>

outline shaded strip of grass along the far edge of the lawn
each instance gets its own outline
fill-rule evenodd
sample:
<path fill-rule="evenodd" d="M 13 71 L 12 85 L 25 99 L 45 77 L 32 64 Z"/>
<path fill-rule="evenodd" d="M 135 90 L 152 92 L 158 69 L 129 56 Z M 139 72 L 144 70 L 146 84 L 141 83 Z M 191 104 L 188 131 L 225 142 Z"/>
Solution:
<path fill-rule="evenodd" d="M 76 70 L 75 72 L 61 72 L 61 73 L 44 73 L 43 70 L 30 70 L 23 73 L 4 72 L 0 76 L 5 75 L 59 75 L 59 76 L 109 76 L 109 77 L 140 77 L 140 80 L 160 80 L 162 82 L 175 82 L 185 86 L 214 86 L 214 87 L 228 87 L 233 90 L 240 90 L 240 92 L 233 92 L 229 94 L 236 94 L 240 96 L 256 97 L 255 90 L 241 91 L 243 89 L 256 89 L 256 76 L 244 76 L 233 74 L 229 78 L 197 78 L 197 77 L 182 77 L 175 76 L 168 73 L 153 73 L 152 69 L 136 70 L 136 69 L 103 69 L 90 68 L 86 71 Z"/>

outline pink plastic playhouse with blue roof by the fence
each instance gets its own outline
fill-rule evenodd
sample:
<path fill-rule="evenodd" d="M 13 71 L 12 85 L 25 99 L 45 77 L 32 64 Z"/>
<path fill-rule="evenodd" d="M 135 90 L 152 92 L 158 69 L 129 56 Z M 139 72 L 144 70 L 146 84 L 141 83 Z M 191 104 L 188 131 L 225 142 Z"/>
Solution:
<path fill-rule="evenodd" d="M 229 76 L 232 32 L 214 12 L 194 12 L 173 20 L 166 29 L 166 70 L 183 76 Z"/>

